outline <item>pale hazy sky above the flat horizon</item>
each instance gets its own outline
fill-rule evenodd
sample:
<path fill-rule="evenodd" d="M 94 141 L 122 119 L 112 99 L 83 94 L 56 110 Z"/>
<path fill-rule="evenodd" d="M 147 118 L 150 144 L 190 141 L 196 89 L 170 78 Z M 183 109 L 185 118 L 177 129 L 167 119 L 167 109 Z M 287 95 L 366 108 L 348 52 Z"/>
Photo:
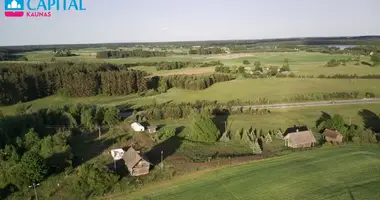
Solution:
<path fill-rule="evenodd" d="M 7 18 L 0 0 L 0 46 L 380 35 L 380 0 L 82 1 Z"/>

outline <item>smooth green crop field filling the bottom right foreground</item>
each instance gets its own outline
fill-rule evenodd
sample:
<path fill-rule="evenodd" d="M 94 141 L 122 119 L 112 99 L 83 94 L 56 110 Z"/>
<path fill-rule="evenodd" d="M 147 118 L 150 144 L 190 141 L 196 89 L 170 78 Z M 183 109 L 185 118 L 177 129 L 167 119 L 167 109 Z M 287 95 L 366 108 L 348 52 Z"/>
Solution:
<path fill-rule="evenodd" d="M 197 172 L 112 199 L 380 199 L 380 149 L 343 146 Z"/>

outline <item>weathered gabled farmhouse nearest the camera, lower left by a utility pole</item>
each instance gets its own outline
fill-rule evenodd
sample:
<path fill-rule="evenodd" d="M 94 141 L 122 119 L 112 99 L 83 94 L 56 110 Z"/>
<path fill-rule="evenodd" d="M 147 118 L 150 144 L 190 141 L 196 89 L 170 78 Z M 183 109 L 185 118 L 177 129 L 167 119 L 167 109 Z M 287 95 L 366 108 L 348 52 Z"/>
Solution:
<path fill-rule="evenodd" d="M 124 152 L 123 160 L 131 176 L 149 174 L 150 162 L 140 151 L 136 151 L 133 147 L 129 147 L 129 149 Z"/>

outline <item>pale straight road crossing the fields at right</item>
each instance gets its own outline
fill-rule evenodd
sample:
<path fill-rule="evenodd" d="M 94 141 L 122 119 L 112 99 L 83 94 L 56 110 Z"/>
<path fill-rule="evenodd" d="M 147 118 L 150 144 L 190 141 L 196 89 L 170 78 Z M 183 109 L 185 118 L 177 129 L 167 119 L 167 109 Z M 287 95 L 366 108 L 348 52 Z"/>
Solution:
<path fill-rule="evenodd" d="M 304 103 L 234 106 L 233 108 L 243 108 L 243 109 L 293 108 L 293 107 L 330 106 L 330 105 L 361 104 L 361 103 L 380 103 L 380 99 L 353 99 L 353 100 L 338 100 L 338 101 L 316 101 L 316 102 L 304 102 Z"/>

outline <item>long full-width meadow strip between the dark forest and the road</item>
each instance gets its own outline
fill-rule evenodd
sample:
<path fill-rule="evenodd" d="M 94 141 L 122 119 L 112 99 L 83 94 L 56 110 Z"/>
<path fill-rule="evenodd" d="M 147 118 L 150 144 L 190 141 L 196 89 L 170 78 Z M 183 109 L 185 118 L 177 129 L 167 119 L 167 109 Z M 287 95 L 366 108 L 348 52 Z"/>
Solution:
<path fill-rule="evenodd" d="M 153 101 L 157 103 L 165 102 L 194 102 L 196 100 L 217 100 L 227 102 L 239 99 L 241 101 L 256 101 L 266 98 L 271 102 L 282 102 L 286 97 L 297 94 L 310 93 L 330 93 L 330 92 L 352 92 L 360 91 L 359 97 L 364 98 L 365 92 L 373 92 L 380 96 L 380 80 L 377 79 L 292 79 L 292 78 L 271 78 L 271 79 L 242 79 L 229 82 L 222 82 L 211 87 L 190 91 L 173 88 L 166 93 L 153 96 L 139 96 L 137 94 L 127 96 L 94 96 L 85 98 L 70 98 L 63 96 L 50 96 L 35 101 L 22 103 L 25 106 L 32 106 L 33 109 L 48 106 L 63 106 L 70 103 L 98 104 L 101 106 L 120 106 L 129 104 L 134 107 L 149 105 Z M 12 114 L 19 105 L 4 106 L 0 110 L 4 114 Z"/>

